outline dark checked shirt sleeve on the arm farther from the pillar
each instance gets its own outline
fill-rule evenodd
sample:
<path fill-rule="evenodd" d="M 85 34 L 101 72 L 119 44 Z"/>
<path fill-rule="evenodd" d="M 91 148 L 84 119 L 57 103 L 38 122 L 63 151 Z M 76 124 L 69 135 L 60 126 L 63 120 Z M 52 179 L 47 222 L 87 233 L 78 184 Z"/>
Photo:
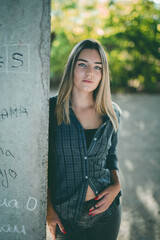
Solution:
<path fill-rule="evenodd" d="M 118 118 L 118 123 L 120 124 L 121 113 L 117 109 L 115 110 L 115 112 L 116 112 L 116 115 Z M 119 135 L 119 128 L 117 131 L 113 130 L 113 134 L 111 137 L 111 146 L 108 150 L 106 167 L 110 171 L 111 170 L 119 170 L 118 169 L 118 157 L 117 157 L 118 135 Z"/>

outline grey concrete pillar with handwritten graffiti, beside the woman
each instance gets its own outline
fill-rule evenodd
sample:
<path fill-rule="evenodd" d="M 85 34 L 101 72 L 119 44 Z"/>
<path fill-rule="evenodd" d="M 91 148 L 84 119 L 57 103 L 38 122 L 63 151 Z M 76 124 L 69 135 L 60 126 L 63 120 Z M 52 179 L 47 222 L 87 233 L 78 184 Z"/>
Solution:
<path fill-rule="evenodd" d="M 0 0 L 0 239 L 46 239 L 50 0 Z"/>

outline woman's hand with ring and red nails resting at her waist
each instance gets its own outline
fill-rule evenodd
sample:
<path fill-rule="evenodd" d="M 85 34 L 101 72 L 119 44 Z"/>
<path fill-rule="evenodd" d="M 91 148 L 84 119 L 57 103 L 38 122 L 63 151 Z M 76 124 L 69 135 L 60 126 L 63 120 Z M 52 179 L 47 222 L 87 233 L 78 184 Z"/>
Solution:
<path fill-rule="evenodd" d="M 95 200 L 99 200 L 95 204 L 96 209 L 94 207 L 90 208 L 89 215 L 94 216 L 96 214 L 106 211 L 113 202 L 113 200 L 115 199 L 115 197 L 117 196 L 117 194 L 119 193 L 119 191 L 120 185 L 113 184 L 107 187 L 100 194 L 98 194 L 97 197 L 95 198 Z"/>

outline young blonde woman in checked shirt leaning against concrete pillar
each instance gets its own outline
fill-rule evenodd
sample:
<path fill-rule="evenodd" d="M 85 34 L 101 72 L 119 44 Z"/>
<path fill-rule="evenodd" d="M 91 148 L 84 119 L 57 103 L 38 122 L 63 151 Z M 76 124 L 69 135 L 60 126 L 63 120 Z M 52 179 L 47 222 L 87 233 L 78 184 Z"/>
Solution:
<path fill-rule="evenodd" d="M 103 47 L 92 39 L 79 42 L 58 96 L 50 99 L 47 223 L 53 239 L 117 239 L 120 114 Z"/>

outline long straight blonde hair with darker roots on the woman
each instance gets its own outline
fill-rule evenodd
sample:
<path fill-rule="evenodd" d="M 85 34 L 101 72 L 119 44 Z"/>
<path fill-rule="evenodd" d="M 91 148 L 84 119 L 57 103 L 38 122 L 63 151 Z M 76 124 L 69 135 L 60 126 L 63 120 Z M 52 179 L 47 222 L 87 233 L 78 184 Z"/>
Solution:
<path fill-rule="evenodd" d="M 71 101 L 71 93 L 73 88 L 74 67 L 80 52 L 84 49 L 97 50 L 102 61 L 102 79 L 99 86 L 94 90 L 93 93 L 95 100 L 95 111 L 99 116 L 107 114 L 114 126 L 115 131 L 117 131 L 118 119 L 113 108 L 114 103 L 112 103 L 111 100 L 107 56 L 101 44 L 93 39 L 80 41 L 75 45 L 68 57 L 57 97 L 56 115 L 58 125 L 62 124 L 62 122 L 70 124 L 69 104 Z M 116 108 L 121 113 L 121 110 L 117 105 Z"/>

